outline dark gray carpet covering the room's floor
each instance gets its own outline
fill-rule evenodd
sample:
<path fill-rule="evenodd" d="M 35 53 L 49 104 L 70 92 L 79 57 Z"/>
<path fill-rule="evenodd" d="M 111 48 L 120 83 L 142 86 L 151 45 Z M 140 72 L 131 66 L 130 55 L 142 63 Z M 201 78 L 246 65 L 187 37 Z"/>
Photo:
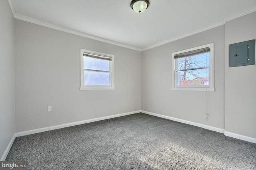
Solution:
<path fill-rule="evenodd" d="M 144 113 L 17 137 L 29 170 L 256 170 L 256 144 Z"/>

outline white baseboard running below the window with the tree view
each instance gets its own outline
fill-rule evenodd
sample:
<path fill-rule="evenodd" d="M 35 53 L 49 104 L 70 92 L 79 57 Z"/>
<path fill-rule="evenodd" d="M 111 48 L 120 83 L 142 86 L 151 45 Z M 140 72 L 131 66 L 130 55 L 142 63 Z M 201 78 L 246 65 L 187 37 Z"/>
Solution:
<path fill-rule="evenodd" d="M 219 133 L 224 133 L 224 129 L 220 129 L 220 128 L 217 128 L 217 127 L 212 127 L 212 126 L 208 126 L 208 125 L 204 125 L 204 124 L 200 124 L 200 123 L 195 123 L 195 122 L 192 122 L 192 121 L 186 121 L 186 120 L 183 120 L 183 119 L 177 119 L 177 118 L 174 118 L 174 117 L 169 117 L 169 116 L 165 116 L 165 115 L 160 115 L 160 114 L 156 114 L 156 113 L 151 113 L 151 112 L 148 112 L 148 111 L 141 111 L 142 113 L 146 113 L 148 115 L 153 115 L 153 116 L 157 116 L 157 117 L 162 117 L 164 119 L 169 119 L 169 120 L 173 120 L 173 121 L 178 121 L 178 122 L 181 122 L 181 123 L 186 123 L 188 125 L 193 125 L 193 126 L 197 126 L 197 127 L 202 127 L 204 129 L 208 129 L 208 130 L 211 130 L 211 131 L 216 131 L 216 132 L 219 132 Z"/>

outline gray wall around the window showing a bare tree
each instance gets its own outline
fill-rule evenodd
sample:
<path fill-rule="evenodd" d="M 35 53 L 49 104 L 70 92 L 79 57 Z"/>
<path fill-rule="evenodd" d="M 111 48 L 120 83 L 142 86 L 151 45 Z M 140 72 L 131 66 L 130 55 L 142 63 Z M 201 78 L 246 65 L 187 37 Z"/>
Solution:
<path fill-rule="evenodd" d="M 215 92 L 172 91 L 171 54 L 214 43 Z M 224 128 L 225 26 L 191 35 L 142 52 L 142 110 Z M 207 97 L 208 95 L 208 97 Z M 208 98 L 208 100 L 206 100 Z M 210 114 L 206 121 L 206 108 Z"/>

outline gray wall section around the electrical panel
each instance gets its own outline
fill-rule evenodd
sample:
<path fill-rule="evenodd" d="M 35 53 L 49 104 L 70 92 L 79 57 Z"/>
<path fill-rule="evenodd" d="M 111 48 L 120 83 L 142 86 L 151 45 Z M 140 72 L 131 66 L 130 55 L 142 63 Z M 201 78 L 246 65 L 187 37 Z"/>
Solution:
<path fill-rule="evenodd" d="M 228 67 L 228 45 L 256 39 L 256 12 L 226 22 L 226 131 L 256 138 L 256 65 Z"/>

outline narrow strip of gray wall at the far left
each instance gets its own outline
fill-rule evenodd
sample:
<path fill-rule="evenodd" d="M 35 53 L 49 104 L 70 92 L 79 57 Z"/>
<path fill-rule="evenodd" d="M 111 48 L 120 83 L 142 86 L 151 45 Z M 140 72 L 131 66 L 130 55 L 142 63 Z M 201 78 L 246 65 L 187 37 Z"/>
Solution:
<path fill-rule="evenodd" d="M 0 158 L 14 133 L 14 19 L 8 0 L 0 0 Z"/>

